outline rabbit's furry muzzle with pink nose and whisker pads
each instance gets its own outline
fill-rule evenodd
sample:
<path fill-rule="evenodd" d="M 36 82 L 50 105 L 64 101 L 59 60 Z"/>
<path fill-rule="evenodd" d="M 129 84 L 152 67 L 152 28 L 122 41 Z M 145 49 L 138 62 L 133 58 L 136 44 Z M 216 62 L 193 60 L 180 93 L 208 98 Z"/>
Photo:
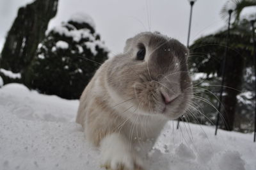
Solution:
<path fill-rule="evenodd" d="M 164 84 L 156 81 L 136 83 L 133 86 L 133 104 L 141 114 L 164 116 L 170 120 L 179 118 L 188 107 L 191 88 L 182 90 L 176 84 L 178 83 Z"/>

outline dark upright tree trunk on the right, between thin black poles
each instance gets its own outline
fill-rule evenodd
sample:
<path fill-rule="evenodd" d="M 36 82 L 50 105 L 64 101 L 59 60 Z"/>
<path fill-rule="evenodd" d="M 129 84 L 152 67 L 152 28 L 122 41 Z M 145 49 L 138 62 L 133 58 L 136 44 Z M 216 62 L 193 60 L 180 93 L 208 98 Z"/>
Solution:
<path fill-rule="evenodd" d="M 237 95 L 240 93 L 241 83 L 243 80 L 244 58 L 232 50 L 228 52 L 227 64 L 225 67 L 225 90 L 223 97 L 223 128 L 233 130 L 234 119 L 236 114 Z"/>

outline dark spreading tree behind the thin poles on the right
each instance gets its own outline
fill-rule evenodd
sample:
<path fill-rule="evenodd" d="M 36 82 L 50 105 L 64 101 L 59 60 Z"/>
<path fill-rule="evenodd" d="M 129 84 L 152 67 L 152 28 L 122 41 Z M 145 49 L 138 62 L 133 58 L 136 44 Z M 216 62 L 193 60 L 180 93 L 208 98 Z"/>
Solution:
<path fill-rule="evenodd" d="M 216 75 L 215 78 L 220 80 L 220 67 L 221 60 L 225 54 L 226 35 L 227 30 L 219 31 L 213 35 L 199 38 L 191 45 L 191 54 L 193 56 L 190 58 L 191 71 L 206 73 L 207 77 L 205 80 L 208 81 L 212 79 L 212 75 Z M 234 127 L 237 95 L 239 95 L 241 87 L 243 86 L 244 88 L 246 86 L 242 84 L 244 70 L 245 68 L 252 67 L 253 44 L 250 41 L 251 38 L 250 22 L 248 20 L 236 22 L 230 29 L 230 43 L 227 54 L 227 65 L 225 67 L 225 95 L 222 101 L 224 108 L 222 111 L 223 122 L 225 122 L 222 128 L 226 130 L 232 130 Z M 212 90 L 209 87 L 207 89 Z M 216 96 L 219 96 L 218 91 L 215 86 L 214 92 Z M 239 113 L 237 112 L 237 114 Z"/>

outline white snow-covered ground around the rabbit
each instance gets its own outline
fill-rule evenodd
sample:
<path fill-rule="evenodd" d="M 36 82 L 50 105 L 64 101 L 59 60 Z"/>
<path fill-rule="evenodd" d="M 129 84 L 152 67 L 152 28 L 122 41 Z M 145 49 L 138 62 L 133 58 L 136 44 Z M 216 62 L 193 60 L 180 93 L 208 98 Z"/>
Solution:
<path fill-rule="evenodd" d="M 0 88 L 0 169 L 98 170 L 99 151 L 86 143 L 74 120 L 78 100 Z M 147 169 L 256 169 L 252 134 L 170 121 L 145 160 Z"/>

